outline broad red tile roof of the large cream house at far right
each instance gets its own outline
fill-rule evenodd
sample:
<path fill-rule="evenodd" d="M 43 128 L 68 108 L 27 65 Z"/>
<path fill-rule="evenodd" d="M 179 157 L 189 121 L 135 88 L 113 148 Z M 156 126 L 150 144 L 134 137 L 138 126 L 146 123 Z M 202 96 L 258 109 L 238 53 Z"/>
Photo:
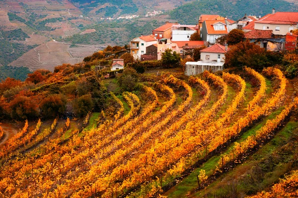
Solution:
<path fill-rule="evenodd" d="M 276 12 L 267 14 L 256 23 L 271 23 L 271 24 L 297 24 L 298 12 Z"/>

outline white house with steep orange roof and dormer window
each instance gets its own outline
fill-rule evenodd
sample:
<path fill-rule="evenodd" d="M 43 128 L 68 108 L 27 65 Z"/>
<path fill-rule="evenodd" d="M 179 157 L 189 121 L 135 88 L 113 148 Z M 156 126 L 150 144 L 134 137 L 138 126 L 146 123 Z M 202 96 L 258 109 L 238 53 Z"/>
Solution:
<path fill-rule="evenodd" d="M 225 20 L 205 20 L 202 25 L 201 38 L 210 44 L 215 44 L 221 36 L 228 34 Z"/>

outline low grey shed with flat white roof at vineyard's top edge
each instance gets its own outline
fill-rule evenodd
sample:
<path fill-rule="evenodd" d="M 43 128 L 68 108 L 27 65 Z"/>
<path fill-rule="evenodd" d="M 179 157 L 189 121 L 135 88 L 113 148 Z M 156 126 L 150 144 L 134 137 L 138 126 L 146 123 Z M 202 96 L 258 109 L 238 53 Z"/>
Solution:
<path fill-rule="evenodd" d="M 198 62 L 186 62 L 184 74 L 187 76 L 198 75 L 205 70 L 211 70 L 213 72 L 224 69 L 224 62 L 213 61 L 198 61 Z"/>

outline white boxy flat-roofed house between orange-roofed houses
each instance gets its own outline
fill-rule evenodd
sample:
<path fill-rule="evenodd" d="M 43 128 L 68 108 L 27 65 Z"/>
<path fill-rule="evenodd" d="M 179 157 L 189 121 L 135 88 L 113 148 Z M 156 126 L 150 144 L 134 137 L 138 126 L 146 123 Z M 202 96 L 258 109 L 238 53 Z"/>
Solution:
<path fill-rule="evenodd" d="M 195 25 L 180 25 L 172 26 L 172 41 L 189 41 L 190 35 L 195 33 Z"/>

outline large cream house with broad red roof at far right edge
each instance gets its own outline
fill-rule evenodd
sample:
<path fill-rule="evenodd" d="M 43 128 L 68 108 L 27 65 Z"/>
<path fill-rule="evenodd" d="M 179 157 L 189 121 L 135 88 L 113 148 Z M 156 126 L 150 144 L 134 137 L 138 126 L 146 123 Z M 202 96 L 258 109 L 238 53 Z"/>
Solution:
<path fill-rule="evenodd" d="M 275 12 L 267 14 L 254 22 L 254 29 L 273 30 L 273 34 L 285 36 L 298 28 L 298 12 Z"/>

